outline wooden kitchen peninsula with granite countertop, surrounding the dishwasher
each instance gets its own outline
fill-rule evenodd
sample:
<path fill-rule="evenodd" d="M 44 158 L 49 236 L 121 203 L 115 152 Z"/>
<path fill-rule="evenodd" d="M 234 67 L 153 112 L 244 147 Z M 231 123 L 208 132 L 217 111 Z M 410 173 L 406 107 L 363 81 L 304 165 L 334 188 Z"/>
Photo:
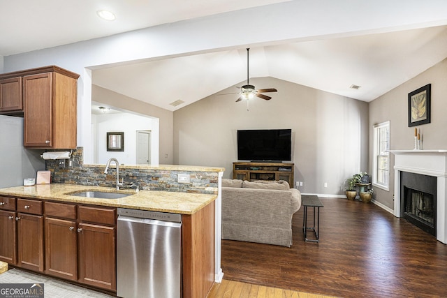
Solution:
<path fill-rule="evenodd" d="M 118 199 L 71 195 L 80 191 L 129 195 Z M 0 188 L 0 260 L 115 293 L 117 208 L 182 214 L 182 297 L 205 297 L 214 283 L 218 197 L 80 184 Z M 61 251 L 54 253 L 61 243 L 68 244 L 61 251 L 73 255 L 61 258 Z"/>

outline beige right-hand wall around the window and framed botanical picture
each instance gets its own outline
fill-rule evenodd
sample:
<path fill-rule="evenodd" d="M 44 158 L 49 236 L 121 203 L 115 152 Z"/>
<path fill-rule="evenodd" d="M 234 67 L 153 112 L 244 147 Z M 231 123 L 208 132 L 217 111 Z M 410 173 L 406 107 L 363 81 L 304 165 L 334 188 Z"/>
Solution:
<path fill-rule="evenodd" d="M 399 87 L 369 103 L 369 142 L 372 126 L 390 121 L 390 149 L 414 148 L 414 127 L 408 126 L 408 94 L 426 84 L 432 84 L 430 124 L 417 126 L 423 139 L 423 149 L 447 149 L 447 59 L 413 77 Z M 372 168 L 372 149 L 369 150 L 369 168 Z M 394 156 L 390 154 L 389 191 L 374 188 L 376 200 L 394 209 Z"/>

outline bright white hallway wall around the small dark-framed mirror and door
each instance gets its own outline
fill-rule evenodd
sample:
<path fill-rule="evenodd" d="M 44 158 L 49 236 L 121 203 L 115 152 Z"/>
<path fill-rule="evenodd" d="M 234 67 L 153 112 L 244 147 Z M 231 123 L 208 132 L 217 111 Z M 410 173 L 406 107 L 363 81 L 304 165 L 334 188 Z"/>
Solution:
<path fill-rule="evenodd" d="M 119 113 L 119 114 L 94 114 L 91 123 L 94 126 L 94 163 L 105 164 L 109 158 L 117 158 L 120 164 L 135 165 L 137 141 L 137 131 L 152 131 L 151 161 L 152 165 L 159 164 L 159 133 L 158 119 L 142 117 L 135 114 Z M 124 132 L 124 151 L 107 151 L 108 132 Z"/>

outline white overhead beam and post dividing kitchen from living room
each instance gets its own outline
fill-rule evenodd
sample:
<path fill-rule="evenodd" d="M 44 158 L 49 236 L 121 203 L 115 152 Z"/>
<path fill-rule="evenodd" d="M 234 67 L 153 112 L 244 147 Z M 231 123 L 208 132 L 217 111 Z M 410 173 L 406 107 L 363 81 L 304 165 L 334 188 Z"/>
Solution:
<path fill-rule="evenodd" d="M 344 5 L 332 0 L 286 1 L 11 55 L 4 57 L 3 70 L 10 72 L 54 64 L 80 74 L 78 146 L 85 147 L 88 162 L 93 154 L 90 147 L 93 68 L 247 45 L 415 29 L 426 24 L 440 25 L 445 24 L 446 7 L 447 3 L 442 0 L 433 0 L 423 6 L 418 0 L 393 3 L 388 0 L 346 1 Z M 250 15 L 249 22 L 247 14 Z M 163 129 L 163 124 L 160 125 Z M 161 135 L 166 141 L 160 142 L 160 156 L 165 156 L 163 151 L 170 151 L 173 147 L 173 131 Z M 167 161 L 170 161 L 170 156 Z"/>

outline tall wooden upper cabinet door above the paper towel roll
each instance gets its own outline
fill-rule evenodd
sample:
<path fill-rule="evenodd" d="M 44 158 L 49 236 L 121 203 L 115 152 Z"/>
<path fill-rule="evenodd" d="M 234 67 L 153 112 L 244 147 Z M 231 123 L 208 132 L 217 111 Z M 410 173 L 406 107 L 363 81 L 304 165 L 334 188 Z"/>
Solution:
<path fill-rule="evenodd" d="M 25 147 L 52 146 L 52 73 L 23 77 Z"/>

